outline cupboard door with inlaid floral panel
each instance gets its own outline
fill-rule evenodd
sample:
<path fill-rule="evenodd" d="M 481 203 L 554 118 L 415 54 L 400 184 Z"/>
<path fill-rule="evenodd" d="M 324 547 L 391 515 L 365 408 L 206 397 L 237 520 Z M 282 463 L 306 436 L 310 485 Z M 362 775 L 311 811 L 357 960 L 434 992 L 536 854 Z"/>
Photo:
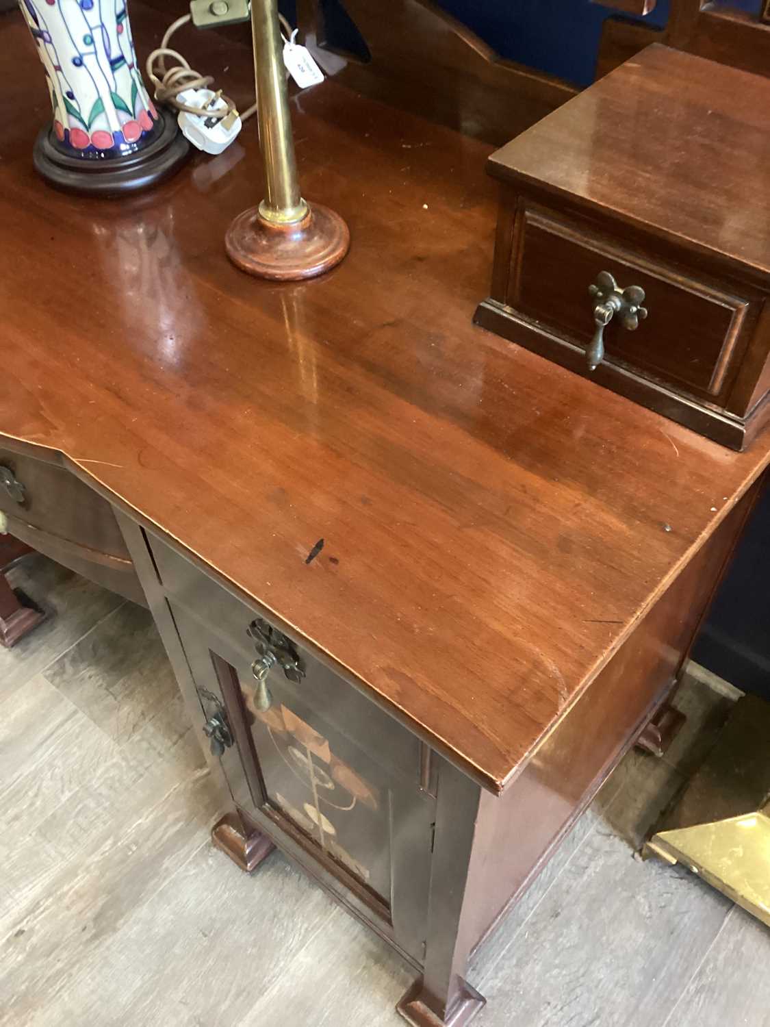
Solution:
<path fill-rule="evenodd" d="M 257 652 L 243 644 L 253 614 L 244 608 L 243 637 L 230 639 L 169 605 L 206 717 L 226 712 L 234 744 L 221 760 L 236 804 L 261 827 L 267 819 L 279 845 L 276 831 L 298 843 L 356 912 L 421 961 L 435 799 L 420 787 L 420 741 L 299 649 L 303 677 L 273 668 L 260 708 Z"/>

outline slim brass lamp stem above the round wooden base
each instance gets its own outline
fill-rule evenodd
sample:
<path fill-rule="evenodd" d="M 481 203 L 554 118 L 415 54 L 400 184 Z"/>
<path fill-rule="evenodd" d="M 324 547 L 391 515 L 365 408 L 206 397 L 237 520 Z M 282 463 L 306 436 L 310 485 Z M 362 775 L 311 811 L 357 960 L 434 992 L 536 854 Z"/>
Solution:
<path fill-rule="evenodd" d="M 290 225 L 307 217 L 308 205 L 297 181 L 277 0 L 252 0 L 252 32 L 267 191 L 260 214 L 273 224 Z"/>

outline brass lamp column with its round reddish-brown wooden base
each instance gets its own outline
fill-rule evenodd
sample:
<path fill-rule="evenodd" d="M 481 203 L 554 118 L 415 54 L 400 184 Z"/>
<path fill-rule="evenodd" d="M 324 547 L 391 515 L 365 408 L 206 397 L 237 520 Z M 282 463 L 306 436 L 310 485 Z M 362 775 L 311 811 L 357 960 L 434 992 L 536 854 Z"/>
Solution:
<path fill-rule="evenodd" d="M 300 193 L 277 0 L 252 0 L 252 33 L 266 196 L 238 215 L 225 245 L 230 259 L 249 274 L 311 278 L 339 264 L 350 232 L 338 214 L 311 205 Z"/>

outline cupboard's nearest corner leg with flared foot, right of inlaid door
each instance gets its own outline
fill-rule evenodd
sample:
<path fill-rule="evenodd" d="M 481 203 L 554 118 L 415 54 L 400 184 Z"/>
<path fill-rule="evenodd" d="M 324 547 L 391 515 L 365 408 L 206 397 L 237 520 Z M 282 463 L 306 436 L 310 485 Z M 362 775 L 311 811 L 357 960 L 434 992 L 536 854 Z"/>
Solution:
<path fill-rule="evenodd" d="M 474 942 L 478 897 L 470 881 L 483 806 L 497 800 L 451 764 L 441 762 L 428 901 L 423 976 L 396 1005 L 413 1027 L 465 1027 L 486 999 L 464 978 Z M 480 846 L 476 846 L 478 854 Z"/>

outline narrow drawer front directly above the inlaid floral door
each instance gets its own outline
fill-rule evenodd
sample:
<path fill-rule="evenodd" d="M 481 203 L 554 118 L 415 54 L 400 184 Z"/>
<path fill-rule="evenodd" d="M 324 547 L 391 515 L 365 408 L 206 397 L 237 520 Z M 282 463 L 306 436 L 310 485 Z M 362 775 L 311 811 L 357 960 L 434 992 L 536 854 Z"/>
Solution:
<path fill-rule="evenodd" d="M 255 612 L 164 542 L 149 533 L 148 540 L 164 589 L 193 617 L 204 618 L 205 627 L 249 667 L 256 650 L 247 629 Z M 358 736 L 357 725 L 365 725 L 367 750 L 372 758 L 393 773 L 413 779 L 413 769 L 420 765 L 419 739 L 301 645 L 298 652 L 305 670 L 303 700 L 325 717 L 333 712 L 335 723 L 343 730 L 349 725 L 353 737 Z M 274 675 L 271 671 L 271 681 Z"/>

